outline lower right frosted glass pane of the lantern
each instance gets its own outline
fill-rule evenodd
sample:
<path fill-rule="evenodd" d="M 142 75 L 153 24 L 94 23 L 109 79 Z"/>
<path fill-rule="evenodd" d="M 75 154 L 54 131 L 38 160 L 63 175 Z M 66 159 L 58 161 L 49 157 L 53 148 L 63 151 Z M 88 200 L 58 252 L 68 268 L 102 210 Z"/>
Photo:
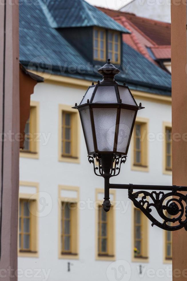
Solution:
<path fill-rule="evenodd" d="M 121 109 L 117 151 L 125 153 L 135 116 L 134 110 Z"/>

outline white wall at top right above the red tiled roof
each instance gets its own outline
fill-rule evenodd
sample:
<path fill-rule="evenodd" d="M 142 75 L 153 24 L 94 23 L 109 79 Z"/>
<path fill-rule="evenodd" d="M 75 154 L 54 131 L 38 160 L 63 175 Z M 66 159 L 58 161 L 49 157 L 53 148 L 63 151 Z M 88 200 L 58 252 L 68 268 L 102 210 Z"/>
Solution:
<path fill-rule="evenodd" d="M 148 19 L 171 22 L 170 0 L 133 0 L 120 11 L 134 13 Z"/>

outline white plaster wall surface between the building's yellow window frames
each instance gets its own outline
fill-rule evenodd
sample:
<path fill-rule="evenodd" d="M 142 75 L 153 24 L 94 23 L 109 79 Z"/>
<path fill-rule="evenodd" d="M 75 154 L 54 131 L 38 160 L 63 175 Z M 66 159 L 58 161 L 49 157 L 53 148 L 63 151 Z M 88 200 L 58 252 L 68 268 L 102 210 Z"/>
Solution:
<path fill-rule="evenodd" d="M 79 259 L 70 260 L 71 271 L 67 272 L 69 260 L 58 259 L 58 185 L 80 187 L 80 200 L 95 200 L 95 188 L 104 188 L 103 178 L 93 173 L 93 167 L 87 161 L 87 151 L 81 131 L 80 164 L 64 163 L 58 161 L 58 105 L 67 104 L 73 106 L 79 103 L 85 91 L 61 85 L 39 83 L 35 86 L 33 101 L 39 101 L 39 130 L 50 133 L 49 142 L 39 145 L 39 159 L 20 158 L 20 180 L 38 182 L 39 191 L 46 192 L 52 198 L 51 212 L 47 216 L 39 218 L 39 257 L 19 257 L 18 268 L 26 270 L 45 269 L 51 270 L 49 281 L 95 281 L 117 280 L 107 277 L 106 270 L 111 264 L 109 261 L 95 260 L 95 210 L 80 210 L 79 212 Z M 171 122 L 171 106 L 143 100 L 144 110 L 138 112 L 138 116 L 149 118 L 150 132 L 162 132 L 163 121 Z M 154 141 L 149 143 L 149 172 L 131 170 L 131 147 L 128 159 L 122 165 L 118 177 L 111 179 L 111 183 L 134 184 L 172 184 L 172 177 L 162 173 L 162 149 L 163 143 Z M 131 262 L 132 241 L 131 234 L 132 202 L 128 199 L 127 190 L 117 190 L 116 200 L 121 200 L 120 210 L 116 210 L 116 260 L 125 260 L 130 263 L 132 277 L 130 280 L 150 280 L 146 273 L 144 278 L 138 276 L 136 266 L 141 263 Z M 122 213 L 122 202 L 128 204 L 125 213 Z M 151 227 L 149 223 L 149 263 L 144 263 L 143 270 L 163 269 L 168 264 L 163 264 L 164 259 L 163 231 L 157 227 Z M 171 265 L 169 265 L 171 268 Z M 109 278 L 109 279 L 108 279 Z M 19 278 L 19 280 L 36 280 L 35 278 Z M 37 280 L 45 280 L 38 278 Z M 124 279 L 127 280 L 127 279 Z M 155 277 L 153 280 L 172 280 L 164 275 L 164 278 Z"/>

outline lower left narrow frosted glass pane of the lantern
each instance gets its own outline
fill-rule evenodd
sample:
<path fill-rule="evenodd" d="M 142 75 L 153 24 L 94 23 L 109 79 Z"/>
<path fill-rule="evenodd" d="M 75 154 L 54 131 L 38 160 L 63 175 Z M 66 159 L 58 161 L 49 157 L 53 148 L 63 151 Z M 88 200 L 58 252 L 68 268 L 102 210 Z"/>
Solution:
<path fill-rule="evenodd" d="M 83 124 L 83 130 L 85 133 L 85 138 L 87 142 L 88 152 L 94 151 L 93 146 L 93 136 L 92 136 L 92 130 L 91 130 L 91 121 L 90 121 L 90 114 L 89 114 L 89 108 L 85 110 L 80 111 L 81 120 Z"/>

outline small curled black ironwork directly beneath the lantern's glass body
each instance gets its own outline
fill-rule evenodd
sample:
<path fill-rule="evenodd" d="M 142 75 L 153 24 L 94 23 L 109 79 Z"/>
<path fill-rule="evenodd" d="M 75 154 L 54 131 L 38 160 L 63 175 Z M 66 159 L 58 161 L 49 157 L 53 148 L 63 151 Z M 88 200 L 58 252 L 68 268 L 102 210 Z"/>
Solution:
<path fill-rule="evenodd" d="M 96 162 L 98 163 L 98 167 L 96 167 L 94 159 L 96 159 Z M 109 177 L 114 177 L 114 176 L 119 175 L 120 169 L 121 169 L 121 164 L 122 163 L 124 164 L 126 162 L 126 159 L 127 159 L 127 156 L 114 155 L 113 159 L 112 159 L 110 173 L 109 173 L 108 176 Z M 89 161 L 90 164 L 93 163 L 94 173 L 96 175 L 100 176 L 100 177 L 103 177 L 104 176 L 104 172 L 103 172 L 103 168 L 102 168 L 101 156 L 98 155 L 98 154 L 95 154 L 93 156 L 89 156 L 88 155 L 88 161 Z M 97 173 L 97 171 L 99 173 Z"/>

